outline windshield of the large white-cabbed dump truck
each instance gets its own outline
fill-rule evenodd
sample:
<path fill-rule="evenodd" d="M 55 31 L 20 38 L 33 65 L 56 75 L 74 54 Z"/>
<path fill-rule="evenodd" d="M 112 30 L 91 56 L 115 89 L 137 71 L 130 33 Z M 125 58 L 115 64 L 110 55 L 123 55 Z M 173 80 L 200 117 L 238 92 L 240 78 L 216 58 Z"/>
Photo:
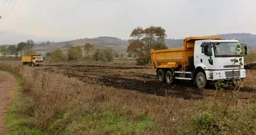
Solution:
<path fill-rule="evenodd" d="M 236 52 L 238 42 L 214 42 L 212 44 L 216 57 L 234 57 L 236 54 L 240 54 L 240 51 Z"/>

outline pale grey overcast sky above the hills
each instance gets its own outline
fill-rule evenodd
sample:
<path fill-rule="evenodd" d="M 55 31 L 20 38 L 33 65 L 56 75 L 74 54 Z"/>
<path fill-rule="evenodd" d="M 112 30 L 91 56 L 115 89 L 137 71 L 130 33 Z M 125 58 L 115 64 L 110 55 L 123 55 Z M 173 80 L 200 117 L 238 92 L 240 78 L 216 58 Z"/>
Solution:
<path fill-rule="evenodd" d="M 128 39 L 138 26 L 161 26 L 168 38 L 256 33 L 255 0 L 0 1 L 0 32 L 34 40 Z"/>

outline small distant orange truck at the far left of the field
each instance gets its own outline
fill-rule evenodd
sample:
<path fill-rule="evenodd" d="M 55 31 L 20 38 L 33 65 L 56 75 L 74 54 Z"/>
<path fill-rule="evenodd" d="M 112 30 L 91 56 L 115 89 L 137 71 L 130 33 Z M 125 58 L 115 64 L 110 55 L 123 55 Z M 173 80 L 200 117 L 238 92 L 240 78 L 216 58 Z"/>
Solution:
<path fill-rule="evenodd" d="M 44 59 L 41 55 L 22 56 L 22 64 L 32 67 L 44 65 Z"/>

